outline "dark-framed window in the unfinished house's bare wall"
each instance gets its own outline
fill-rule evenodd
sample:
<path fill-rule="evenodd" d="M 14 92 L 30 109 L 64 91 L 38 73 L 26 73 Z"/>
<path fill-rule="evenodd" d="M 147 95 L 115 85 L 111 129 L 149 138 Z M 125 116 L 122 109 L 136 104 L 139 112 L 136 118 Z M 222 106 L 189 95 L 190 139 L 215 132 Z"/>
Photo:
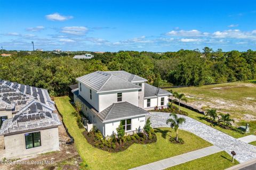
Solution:
<path fill-rule="evenodd" d="M 25 134 L 26 149 L 35 148 L 41 146 L 41 133 L 26 133 Z"/>

